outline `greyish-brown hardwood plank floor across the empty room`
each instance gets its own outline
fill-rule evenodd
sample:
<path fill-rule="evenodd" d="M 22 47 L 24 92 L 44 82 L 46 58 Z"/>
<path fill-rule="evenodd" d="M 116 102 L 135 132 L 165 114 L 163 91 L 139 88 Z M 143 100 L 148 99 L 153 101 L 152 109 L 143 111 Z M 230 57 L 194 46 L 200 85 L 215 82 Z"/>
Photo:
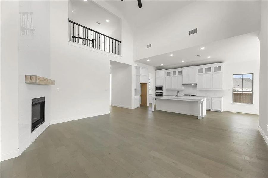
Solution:
<path fill-rule="evenodd" d="M 196 116 L 111 107 L 111 114 L 50 125 L 4 177 L 268 177 L 258 116 Z"/>

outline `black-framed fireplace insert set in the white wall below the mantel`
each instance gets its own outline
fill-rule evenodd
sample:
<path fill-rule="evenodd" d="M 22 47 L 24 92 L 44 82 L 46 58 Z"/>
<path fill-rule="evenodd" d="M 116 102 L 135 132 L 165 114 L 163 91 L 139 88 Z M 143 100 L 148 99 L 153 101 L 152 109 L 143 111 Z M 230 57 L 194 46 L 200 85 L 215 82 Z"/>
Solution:
<path fill-rule="evenodd" d="M 45 122 L 45 97 L 32 99 L 32 132 Z"/>

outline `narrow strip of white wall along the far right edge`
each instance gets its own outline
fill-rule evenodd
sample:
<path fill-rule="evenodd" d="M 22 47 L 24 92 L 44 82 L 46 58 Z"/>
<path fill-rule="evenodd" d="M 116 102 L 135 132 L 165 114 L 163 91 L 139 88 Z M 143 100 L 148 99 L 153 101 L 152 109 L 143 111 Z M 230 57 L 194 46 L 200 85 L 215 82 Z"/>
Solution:
<path fill-rule="evenodd" d="M 268 1 L 261 1 L 260 39 L 260 132 L 268 144 Z"/>

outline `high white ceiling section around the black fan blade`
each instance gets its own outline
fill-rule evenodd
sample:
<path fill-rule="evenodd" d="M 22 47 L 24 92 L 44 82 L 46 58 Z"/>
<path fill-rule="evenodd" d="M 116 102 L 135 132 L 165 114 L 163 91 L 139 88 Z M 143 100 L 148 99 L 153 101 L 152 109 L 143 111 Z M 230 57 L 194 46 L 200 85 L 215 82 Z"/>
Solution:
<path fill-rule="evenodd" d="M 122 12 L 132 28 L 138 28 L 177 11 L 192 1 L 142 0 L 142 8 L 137 7 L 137 0 L 108 0 L 106 2 Z"/>

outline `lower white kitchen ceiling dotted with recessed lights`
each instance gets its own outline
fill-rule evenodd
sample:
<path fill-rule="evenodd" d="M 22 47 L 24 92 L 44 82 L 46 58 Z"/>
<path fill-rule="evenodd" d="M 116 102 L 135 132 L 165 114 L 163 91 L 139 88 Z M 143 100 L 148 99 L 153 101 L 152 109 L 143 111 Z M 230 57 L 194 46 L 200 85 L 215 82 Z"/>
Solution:
<path fill-rule="evenodd" d="M 205 49 L 201 50 L 200 47 L 205 47 Z M 154 66 L 157 69 L 172 69 L 217 62 L 259 60 L 259 47 L 258 32 L 254 32 L 140 59 L 137 62 Z M 173 54 L 173 56 L 170 56 L 170 54 Z M 201 57 L 196 55 L 201 55 Z M 208 56 L 211 56 L 211 58 L 207 58 Z M 150 59 L 150 61 L 147 61 L 147 59 Z M 161 64 L 163 66 L 160 66 Z"/>

